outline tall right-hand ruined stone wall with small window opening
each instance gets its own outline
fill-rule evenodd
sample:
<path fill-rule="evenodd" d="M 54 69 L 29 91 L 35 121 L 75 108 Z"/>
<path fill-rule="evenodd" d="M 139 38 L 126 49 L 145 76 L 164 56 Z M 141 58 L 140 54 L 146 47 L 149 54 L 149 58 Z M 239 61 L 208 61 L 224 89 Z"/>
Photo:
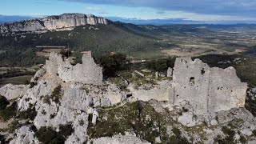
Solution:
<path fill-rule="evenodd" d="M 178 106 L 190 102 L 196 114 L 214 114 L 243 107 L 247 83 L 241 82 L 233 67 L 210 68 L 199 59 L 176 58 L 169 101 Z"/>

